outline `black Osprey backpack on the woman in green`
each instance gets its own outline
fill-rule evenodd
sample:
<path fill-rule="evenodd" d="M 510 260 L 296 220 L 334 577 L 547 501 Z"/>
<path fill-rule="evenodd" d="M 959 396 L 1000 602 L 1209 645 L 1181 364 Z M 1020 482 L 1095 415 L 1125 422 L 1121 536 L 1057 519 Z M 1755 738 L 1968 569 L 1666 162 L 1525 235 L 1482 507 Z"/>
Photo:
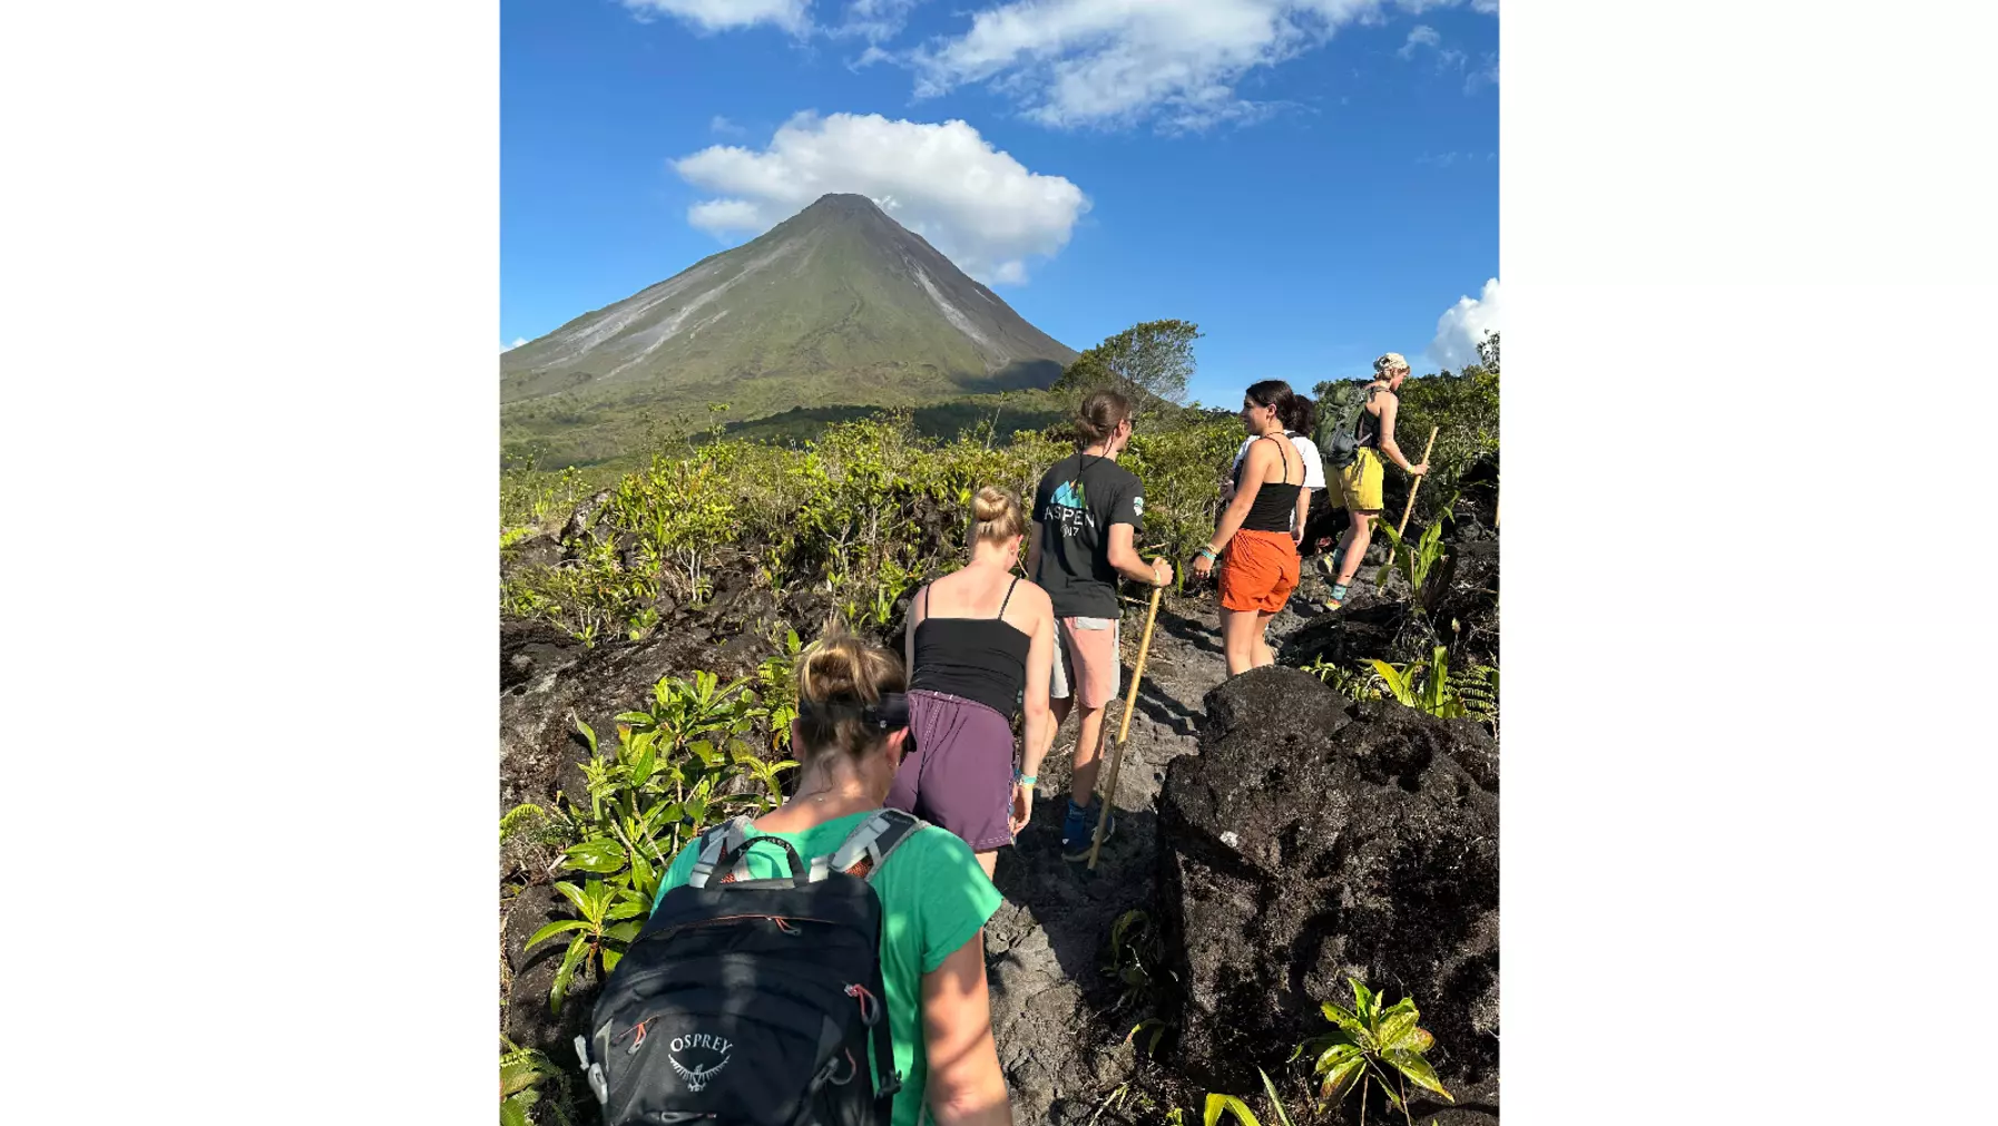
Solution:
<path fill-rule="evenodd" d="M 889 1122 L 901 1076 L 871 880 L 925 823 L 877 811 L 809 864 L 747 827 L 697 839 L 687 884 L 659 900 L 603 982 L 589 1040 L 575 1038 L 605 1126 Z M 753 843 L 781 846 L 791 874 L 749 878 Z"/>

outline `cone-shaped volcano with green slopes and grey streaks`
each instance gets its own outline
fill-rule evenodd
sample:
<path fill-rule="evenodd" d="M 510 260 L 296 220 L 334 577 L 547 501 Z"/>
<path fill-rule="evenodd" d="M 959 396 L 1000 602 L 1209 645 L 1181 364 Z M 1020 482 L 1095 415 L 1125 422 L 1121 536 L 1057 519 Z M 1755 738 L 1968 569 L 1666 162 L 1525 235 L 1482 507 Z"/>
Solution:
<path fill-rule="evenodd" d="M 501 431 L 603 457 L 645 415 L 925 405 L 1047 387 L 1073 359 L 871 200 L 825 196 L 501 353 Z"/>

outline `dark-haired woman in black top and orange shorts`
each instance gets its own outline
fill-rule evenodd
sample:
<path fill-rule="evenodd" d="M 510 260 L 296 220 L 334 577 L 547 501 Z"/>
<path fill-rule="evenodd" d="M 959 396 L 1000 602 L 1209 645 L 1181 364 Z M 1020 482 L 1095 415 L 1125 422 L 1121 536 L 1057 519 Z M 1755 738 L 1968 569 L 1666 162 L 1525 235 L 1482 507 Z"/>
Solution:
<path fill-rule="evenodd" d="M 1265 631 L 1297 589 L 1297 541 L 1305 535 L 1305 461 L 1285 441 L 1283 423 L 1297 413 L 1297 395 L 1283 379 L 1263 379 L 1243 395 L 1249 455 L 1235 467 L 1235 499 L 1221 513 L 1215 539 L 1193 559 L 1207 575 L 1221 559 L 1221 645 L 1229 675 L 1275 665 Z M 1223 557 L 1225 553 L 1225 557 Z"/>

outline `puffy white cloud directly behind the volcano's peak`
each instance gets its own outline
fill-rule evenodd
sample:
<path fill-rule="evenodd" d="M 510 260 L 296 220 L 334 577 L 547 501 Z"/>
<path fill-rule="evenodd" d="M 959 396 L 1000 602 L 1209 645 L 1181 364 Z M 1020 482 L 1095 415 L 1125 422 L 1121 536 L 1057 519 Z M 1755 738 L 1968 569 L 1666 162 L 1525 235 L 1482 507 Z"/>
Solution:
<path fill-rule="evenodd" d="M 805 112 L 761 152 L 711 146 L 673 172 L 717 196 L 687 210 L 689 224 L 715 236 L 761 234 L 827 192 L 853 192 L 987 283 L 1023 283 L 1027 260 L 1061 252 L 1089 210 L 1081 188 L 1029 172 L 955 120 Z"/>

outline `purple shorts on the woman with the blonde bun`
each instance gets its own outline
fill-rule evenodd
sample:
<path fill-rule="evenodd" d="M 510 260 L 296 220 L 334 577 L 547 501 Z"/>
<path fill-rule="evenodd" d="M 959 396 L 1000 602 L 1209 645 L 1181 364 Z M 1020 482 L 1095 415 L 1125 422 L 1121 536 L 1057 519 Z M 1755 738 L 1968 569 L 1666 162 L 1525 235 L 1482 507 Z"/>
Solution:
<path fill-rule="evenodd" d="M 909 693 L 909 739 L 887 805 L 957 835 L 973 852 L 1013 843 L 1013 725 L 949 693 Z"/>

